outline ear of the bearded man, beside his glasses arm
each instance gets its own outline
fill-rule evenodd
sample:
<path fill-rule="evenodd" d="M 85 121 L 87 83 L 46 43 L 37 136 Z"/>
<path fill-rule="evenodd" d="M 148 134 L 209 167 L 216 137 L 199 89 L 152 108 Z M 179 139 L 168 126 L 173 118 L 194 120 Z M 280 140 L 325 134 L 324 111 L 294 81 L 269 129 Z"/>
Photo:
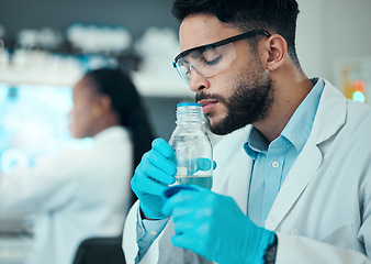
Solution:
<path fill-rule="evenodd" d="M 288 55 L 288 43 L 279 34 L 273 34 L 268 37 L 265 42 L 263 50 L 266 56 L 266 67 L 272 72 L 278 69 L 286 58 Z"/>

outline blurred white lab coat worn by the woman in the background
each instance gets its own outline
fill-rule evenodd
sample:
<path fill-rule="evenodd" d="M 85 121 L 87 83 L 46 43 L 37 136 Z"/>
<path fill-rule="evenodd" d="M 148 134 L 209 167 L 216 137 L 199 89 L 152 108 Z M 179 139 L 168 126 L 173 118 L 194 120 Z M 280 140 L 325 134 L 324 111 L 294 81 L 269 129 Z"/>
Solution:
<path fill-rule="evenodd" d="M 121 235 L 130 208 L 132 150 L 128 132 L 112 127 L 88 150 L 64 151 L 0 178 L 0 213 L 36 213 L 27 263 L 70 264 L 83 239 Z"/>

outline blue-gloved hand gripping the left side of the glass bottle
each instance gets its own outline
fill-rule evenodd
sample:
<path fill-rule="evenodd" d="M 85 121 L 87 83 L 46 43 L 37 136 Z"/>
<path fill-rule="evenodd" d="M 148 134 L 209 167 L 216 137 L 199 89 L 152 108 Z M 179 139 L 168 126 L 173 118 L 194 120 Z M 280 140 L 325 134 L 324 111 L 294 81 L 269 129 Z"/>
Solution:
<path fill-rule="evenodd" d="M 165 219 L 167 216 L 161 213 L 161 194 L 176 182 L 175 153 L 162 139 L 154 140 L 151 145 L 153 148 L 143 155 L 136 167 L 131 184 L 143 213 L 150 219 Z"/>

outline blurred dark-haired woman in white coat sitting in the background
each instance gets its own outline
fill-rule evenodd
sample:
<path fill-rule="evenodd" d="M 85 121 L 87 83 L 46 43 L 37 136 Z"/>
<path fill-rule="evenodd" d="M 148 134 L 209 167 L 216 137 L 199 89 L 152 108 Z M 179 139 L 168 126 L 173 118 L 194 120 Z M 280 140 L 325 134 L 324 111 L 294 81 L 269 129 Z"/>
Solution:
<path fill-rule="evenodd" d="M 72 263 L 85 239 L 121 235 L 133 170 L 153 141 L 140 97 L 120 70 L 86 74 L 72 96 L 69 130 L 92 145 L 0 175 L 0 213 L 35 215 L 27 263 Z"/>

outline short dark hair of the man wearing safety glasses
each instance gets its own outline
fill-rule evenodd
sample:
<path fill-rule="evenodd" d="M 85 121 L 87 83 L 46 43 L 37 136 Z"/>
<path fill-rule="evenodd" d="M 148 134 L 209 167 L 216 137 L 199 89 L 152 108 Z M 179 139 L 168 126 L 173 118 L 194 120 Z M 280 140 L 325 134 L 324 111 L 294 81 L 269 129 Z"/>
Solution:
<path fill-rule="evenodd" d="M 280 34 L 288 42 L 288 53 L 300 66 L 295 51 L 295 0 L 176 0 L 172 14 L 179 22 L 198 13 L 214 14 L 221 22 L 241 31 L 266 30 Z M 252 38 L 251 38 L 252 40 Z"/>

